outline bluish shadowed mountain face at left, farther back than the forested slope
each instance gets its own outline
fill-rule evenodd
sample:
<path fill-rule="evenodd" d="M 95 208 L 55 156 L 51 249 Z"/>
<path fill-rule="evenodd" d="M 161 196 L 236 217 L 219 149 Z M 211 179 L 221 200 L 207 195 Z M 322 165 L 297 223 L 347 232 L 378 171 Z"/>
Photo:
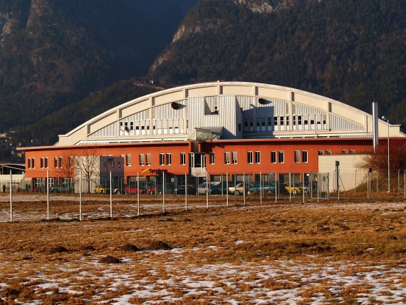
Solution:
<path fill-rule="evenodd" d="M 145 76 L 194 2 L 1 0 L 0 130 Z"/>

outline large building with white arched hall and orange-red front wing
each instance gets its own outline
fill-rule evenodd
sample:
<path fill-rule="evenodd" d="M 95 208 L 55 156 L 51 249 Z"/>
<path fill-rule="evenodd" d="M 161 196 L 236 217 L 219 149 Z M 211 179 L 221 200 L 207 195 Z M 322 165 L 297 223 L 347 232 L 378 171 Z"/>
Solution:
<path fill-rule="evenodd" d="M 293 88 L 193 84 L 123 103 L 59 135 L 53 146 L 24 148 L 26 175 L 35 184 L 48 172 L 59 184 L 74 177 L 73 160 L 84 155 L 114 157 L 100 163 L 100 171 L 123 167 L 126 182 L 161 172 L 211 179 L 318 172 L 323 155 L 372 152 L 373 120 L 337 100 Z M 378 120 L 376 130 L 381 145 L 388 136 L 406 143 L 399 125 Z"/>

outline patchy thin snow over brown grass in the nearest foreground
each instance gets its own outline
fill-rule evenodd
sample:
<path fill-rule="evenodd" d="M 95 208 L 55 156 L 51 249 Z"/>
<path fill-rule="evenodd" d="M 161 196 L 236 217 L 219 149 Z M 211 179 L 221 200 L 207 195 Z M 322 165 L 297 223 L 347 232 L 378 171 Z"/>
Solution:
<path fill-rule="evenodd" d="M 122 264 L 91 259 L 52 262 L 26 271 L 26 285 L 40 299 L 65 294 L 97 304 L 405 304 L 406 264 L 368 262 L 274 261 L 241 264 L 184 263 L 185 252 L 215 252 L 217 247 L 172 249 L 144 254 Z M 160 262 L 160 263 L 159 263 Z M 148 267 L 145 269 L 145 267 Z M 9 269 L 23 272 L 26 264 Z M 0 264 L 1 269 L 1 264 Z M 0 283 L 4 290 L 9 286 Z M 94 290 L 88 294 L 88 290 Z M 6 302 L 4 296 L 2 301 Z"/>

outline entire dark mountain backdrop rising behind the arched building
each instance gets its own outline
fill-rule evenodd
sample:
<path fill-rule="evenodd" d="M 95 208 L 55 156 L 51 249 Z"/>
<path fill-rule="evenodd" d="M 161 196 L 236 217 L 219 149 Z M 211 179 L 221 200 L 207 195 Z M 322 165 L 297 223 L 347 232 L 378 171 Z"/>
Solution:
<path fill-rule="evenodd" d="M 144 79 L 272 83 L 368 112 L 376 100 L 405 123 L 405 41 L 399 0 L 1 0 L 0 132 L 51 145 L 159 90 Z"/>

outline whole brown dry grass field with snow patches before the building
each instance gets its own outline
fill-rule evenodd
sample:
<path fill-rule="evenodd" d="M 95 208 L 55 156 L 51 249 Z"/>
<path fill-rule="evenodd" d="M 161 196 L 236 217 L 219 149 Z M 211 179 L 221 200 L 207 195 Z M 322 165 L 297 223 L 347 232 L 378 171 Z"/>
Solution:
<path fill-rule="evenodd" d="M 405 304 L 406 202 L 0 196 L 0 304 Z"/>

